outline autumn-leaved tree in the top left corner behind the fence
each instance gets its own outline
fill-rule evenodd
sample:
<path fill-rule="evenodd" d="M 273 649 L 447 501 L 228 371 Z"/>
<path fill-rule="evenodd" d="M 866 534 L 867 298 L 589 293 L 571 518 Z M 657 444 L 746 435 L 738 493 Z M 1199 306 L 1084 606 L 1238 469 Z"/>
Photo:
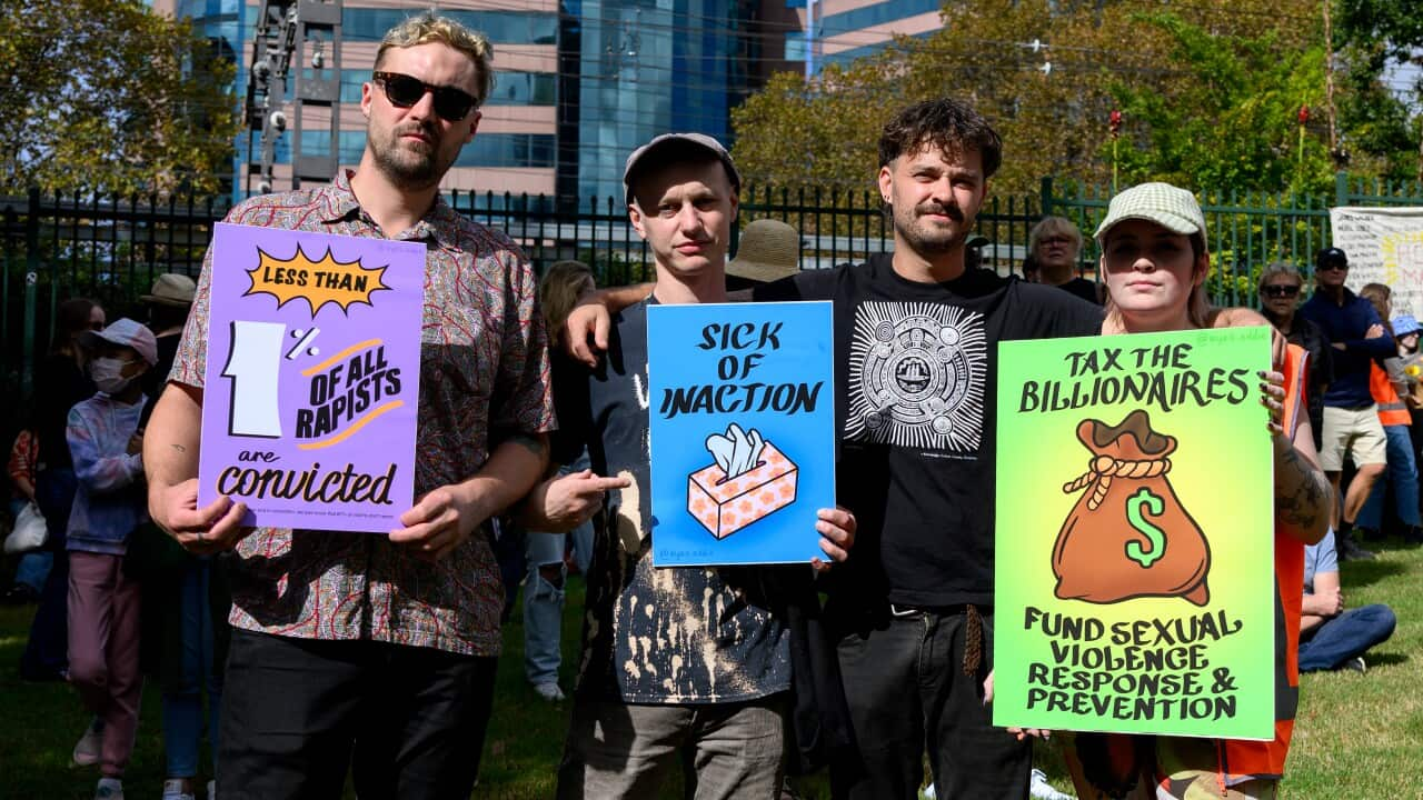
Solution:
<path fill-rule="evenodd" d="M 211 192 L 238 132 L 233 65 L 139 0 L 0 6 L 0 192 Z"/>

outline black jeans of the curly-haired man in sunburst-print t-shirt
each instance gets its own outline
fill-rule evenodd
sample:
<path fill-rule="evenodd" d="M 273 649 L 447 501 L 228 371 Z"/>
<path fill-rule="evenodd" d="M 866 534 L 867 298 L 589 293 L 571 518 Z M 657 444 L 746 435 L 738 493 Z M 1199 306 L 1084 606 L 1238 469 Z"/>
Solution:
<path fill-rule="evenodd" d="M 993 653 L 993 616 L 983 611 L 983 665 L 972 676 L 962 669 L 963 611 L 887 609 L 841 628 L 840 670 L 867 774 L 835 786 L 835 797 L 916 799 L 925 747 L 941 800 L 1027 797 L 1032 743 L 993 727 L 983 705 Z"/>

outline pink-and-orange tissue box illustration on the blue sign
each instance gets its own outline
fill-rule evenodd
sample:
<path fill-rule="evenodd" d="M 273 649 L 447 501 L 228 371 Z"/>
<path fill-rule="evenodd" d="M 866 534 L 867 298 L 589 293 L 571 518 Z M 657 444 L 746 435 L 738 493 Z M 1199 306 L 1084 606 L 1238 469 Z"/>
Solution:
<path fill-rule="evenodd" d="M 687 511 L 713 537 L 724 540 L 795 502 L 800 467 L 758 431 L 747 436 L 731 424 L 726 436 L 707 437 L 707 450 L 716 463 L 687 478 Z"/>

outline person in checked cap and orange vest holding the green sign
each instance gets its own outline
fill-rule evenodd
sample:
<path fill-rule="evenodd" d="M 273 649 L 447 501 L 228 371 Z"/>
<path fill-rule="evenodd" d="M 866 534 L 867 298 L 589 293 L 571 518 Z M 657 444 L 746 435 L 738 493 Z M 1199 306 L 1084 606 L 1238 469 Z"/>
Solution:
<path fill-rule="evenodd" d="M 1205 218 L 1195 198 L 1143 184 L 1111 199 L 1097 228 L 1107 288 L 1104 333 L 1202 327 L 1208 316 Z M 1308 356 L 1288 346 L 1281 372 L 1262 372 L 1262 403 L 1275 448 L 1275 737 L 1268 742 L 1180 736 L 1080 735 L 1069 754 L 1083 800 L 1274 799 L 1299 702 L 1299 616 L 1305 544 L 1329 522 L 1329 481 L 1305 411 Z M 1264 487 L 1262 487 L 1264 488 Z M 1090 744 L 1090 750 L 1089 746 Z M 1076 763 L 1076 766 L 1073 766 Z M 1090 776 L 1090 777 L 1089 777 Z M 1110 790 L 1104 790 L 1110 787 Z"/>

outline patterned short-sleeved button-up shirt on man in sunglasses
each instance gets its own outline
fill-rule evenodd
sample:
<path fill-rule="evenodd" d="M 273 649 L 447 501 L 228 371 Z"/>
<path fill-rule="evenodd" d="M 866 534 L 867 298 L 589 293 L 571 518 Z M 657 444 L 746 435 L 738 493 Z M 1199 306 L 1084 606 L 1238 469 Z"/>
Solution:
<path fill-rule="evenodd" d="M 342 172 L 332 185 L 263 195 L 228 222 L 384 238 Z M 504 233 L 443 199 L 400 239 L 424 242 L 416 495 L 472 477 L 490 450 L 554 427 L 534 270 Z M 169 380 L 203 384 L 209 248 Z M 305 639 L 374 639 L 498 655 L 504 588 L 488 527 L 437 564 L 383 535 L 258 528 L 232 562 L 232 623 Z"/>

